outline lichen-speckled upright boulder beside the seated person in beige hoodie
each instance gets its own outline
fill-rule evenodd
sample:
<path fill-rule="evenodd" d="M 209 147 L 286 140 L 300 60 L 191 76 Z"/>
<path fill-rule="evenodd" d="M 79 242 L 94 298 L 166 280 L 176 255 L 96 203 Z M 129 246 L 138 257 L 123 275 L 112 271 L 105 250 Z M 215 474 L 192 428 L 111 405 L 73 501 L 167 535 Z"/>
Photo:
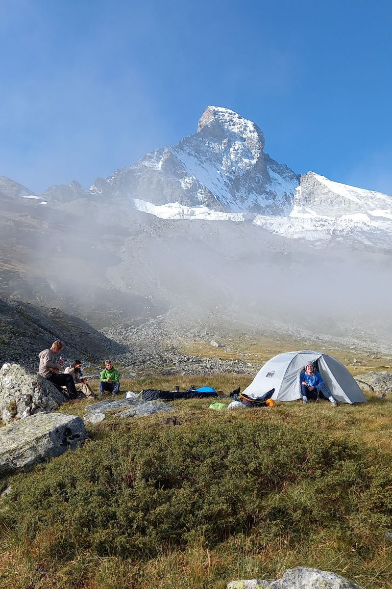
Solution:
<path fill-rule="evenodd" d="M 9 423 L 33 413 L 53 411 L 68 401 L 55 385 L 28 372 L 19 364 L 3 364 L 0 369 L 0 419 Z"/>

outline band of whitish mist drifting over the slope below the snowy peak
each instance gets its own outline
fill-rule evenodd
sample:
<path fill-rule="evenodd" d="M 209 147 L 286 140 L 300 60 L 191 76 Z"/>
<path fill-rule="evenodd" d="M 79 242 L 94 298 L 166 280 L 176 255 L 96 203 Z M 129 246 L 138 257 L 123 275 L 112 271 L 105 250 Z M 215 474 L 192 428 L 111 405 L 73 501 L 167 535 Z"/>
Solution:
<path fill-rule="evenodd" d="M 8 296 L 103 330 L 170 311 L 179 336 L 201 324 L 391 343 L 388 251 L 290 240 L 247 221 L 158 219 L 122 199 L 24 204 L 2 233 L 18 269 L 6 289 L 2 280 Z"/>

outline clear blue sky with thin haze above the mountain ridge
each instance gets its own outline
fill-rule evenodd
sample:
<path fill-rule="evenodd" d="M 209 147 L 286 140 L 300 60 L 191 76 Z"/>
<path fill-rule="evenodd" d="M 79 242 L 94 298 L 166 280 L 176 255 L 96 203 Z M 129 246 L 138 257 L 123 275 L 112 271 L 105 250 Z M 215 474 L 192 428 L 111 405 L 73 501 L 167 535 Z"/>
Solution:
<path fill-rule="evenodd" d="M 214 104 L 296 173 L 391 194 L 391 25 L 384 0 L 1 0 L 0 176 L 90 186 Z"/>

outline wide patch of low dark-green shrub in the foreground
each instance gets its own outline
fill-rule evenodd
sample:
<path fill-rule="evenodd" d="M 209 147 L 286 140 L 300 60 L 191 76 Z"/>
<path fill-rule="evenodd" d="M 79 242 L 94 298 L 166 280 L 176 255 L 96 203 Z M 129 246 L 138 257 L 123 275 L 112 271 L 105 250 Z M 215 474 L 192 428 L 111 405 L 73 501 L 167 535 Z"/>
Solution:
<path fill-rule="evenodd" d="M 326 434 L 237 419 L 155 423 L 67 452 L 14 477 L 0 525 L 55 530 L 53 557 L 153 557 L 170 545 L 244 534 L 269 542 L 333 535 L 371 557 L 390 527 L 391 468 L 380 452 Z M 1 530 L 0 530 L 1 532 Z"/>

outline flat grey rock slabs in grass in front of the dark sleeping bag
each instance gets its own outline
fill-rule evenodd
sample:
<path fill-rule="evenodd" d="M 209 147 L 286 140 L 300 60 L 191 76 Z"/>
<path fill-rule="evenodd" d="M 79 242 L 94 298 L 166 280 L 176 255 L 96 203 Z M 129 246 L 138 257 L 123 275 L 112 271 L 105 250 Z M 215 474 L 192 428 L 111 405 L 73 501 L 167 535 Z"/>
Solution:
<path fill-rule="evenodd" d="M 116 413 L 114 413 L 115 411 Z M 144 402 L 135 395 L 128 399 L 105 399 L 105 401 L 88 405 L 83 419 L 88 423 L 98 423 L 105 419 L 108 412 L 114 413 L 116 417 L 129 418 L 153 415 L 160 411 L 175 411 L 175 408 L 169 403 L 160 401 Z"/>

